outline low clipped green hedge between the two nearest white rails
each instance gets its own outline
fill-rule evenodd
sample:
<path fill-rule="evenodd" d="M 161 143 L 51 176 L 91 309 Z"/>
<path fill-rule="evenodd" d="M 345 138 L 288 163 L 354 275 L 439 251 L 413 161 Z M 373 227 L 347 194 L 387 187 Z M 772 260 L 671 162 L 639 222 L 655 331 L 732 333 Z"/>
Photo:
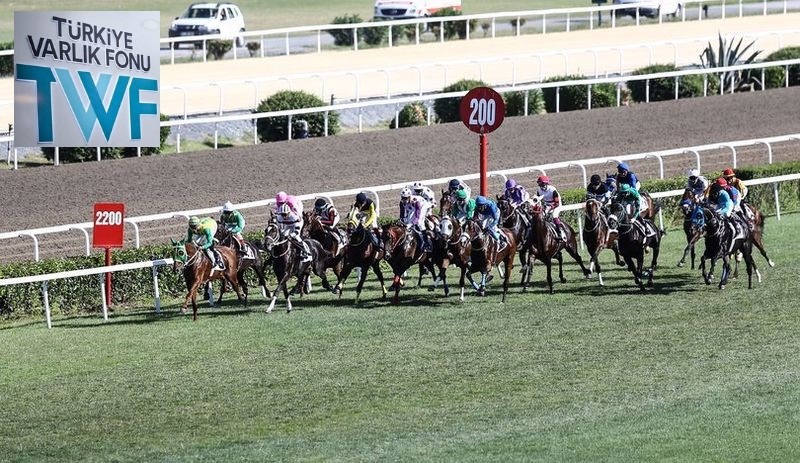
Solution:
<path fill-rule="evenodd" d="M 780 164 L 763 165 L 756 167 L 742 167 L 736 170 L 738 176 L 747 181 L 754 178 L 774 177 L 800 172 L 800 161 Z M 709 178 L 714 178 L 718 172 L 708 173 Z M 668 191 L 684 188 L 685 177 L 674 177 L 665 180 L 645 180 L 642 184 L 644 191 Z M 800 181 L 782 182 L 779 188 L 779 198 L 782 212 L 800 211 Z M 572 188 L 561 191 L 566 204 L 583 201 L 585 190 Z M 664 198 L 661 209 L 664 211 L 666 228 L 680 226 L 683 217 L 678 208 L 677 197 Z M 766 215 L 775 213 L 772 196 L 772 185 L 755 185 L 750 187 L 748 201 L 758 205 Z M 567 211 L 562 217 L 577 225 L 577 217 L 581 211 Z M 386 225 L 395 222 L 394 217 L 381 217 L 380 224 Z M 246 238 L 258 241 L 261 232 L 254 231 L 246 234 Z M 114 263 L 124 264 L 160 259 L 171 255 L 169 244 L 143 246 L 140 249 L 125 249 L 114 253 Z M 62 259 L 47 259 L 40 262 L 20 262 L 0 265 L 0 279 L 14 278 L 45 273 L 62 272 L 81 268 L 99 267 L 103 265 L 103 255 L 96 254 L 89 257 L 73 257 Z M 164 295 L 183 296 L 186 286 L 181 272 L 173 272 L 171 268 L 161 267 L 158 272 L 159 288 Z M 254 272 L 246 272 L 248 286 L 257 287 Z M 97 312 L 102 307 L 100 299 L 100 276 L 93 275 L 70 280 L 54 280 L 48 284 L 50 307 L 53 313 L 70 315 L 79 312 Z M 269 284 L 275 284 L 274 278 L 268 278 Z M 148 303 L 153 294 L 153 275 L 149 268 L 129 270 L 114 274 L 113 302 L 115 304 L 129 304 L 134 302 Z M 216 285 L 217 291 L 219 285 Z M 251 292 L 253 294 L 253 292 Z M 0 316 L 13 318 L 21 316 L 41 315 L 44 305 L 41 299 L 40 284 L 26 284 L 0 287 Z"/>

